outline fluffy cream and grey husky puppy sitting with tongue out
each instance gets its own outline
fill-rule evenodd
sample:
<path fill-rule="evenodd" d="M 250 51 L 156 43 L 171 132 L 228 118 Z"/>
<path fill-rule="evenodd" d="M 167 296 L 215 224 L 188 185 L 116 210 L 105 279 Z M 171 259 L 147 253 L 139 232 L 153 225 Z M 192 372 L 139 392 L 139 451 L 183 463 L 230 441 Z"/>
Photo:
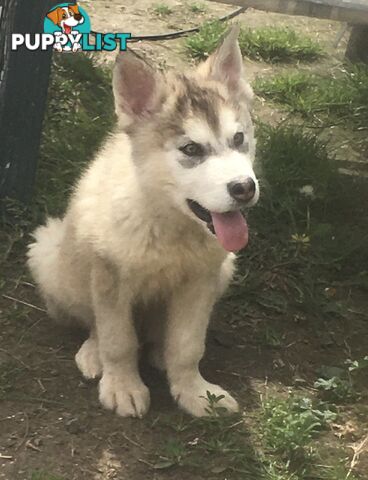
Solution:
<path fill-rule="evenodd" d="M 248 241 L 240 208 L 259 195 L 252 91 L 237 36 L 235 27 L 185 74 L 158 73 L 132 52 L 118 56 L 119 128 L 77 183 L 65 216 L 39 227 L 29 248 L 50 316 L 89 329 L 78 368 L 101 377 L 102 405 L 122 416 L 149 408 L 138 339 L 181 408 L 206 415 L 211 392 L 223 396 L 220 406 L 238 409 L 198 368 L 233 252 Z"/>

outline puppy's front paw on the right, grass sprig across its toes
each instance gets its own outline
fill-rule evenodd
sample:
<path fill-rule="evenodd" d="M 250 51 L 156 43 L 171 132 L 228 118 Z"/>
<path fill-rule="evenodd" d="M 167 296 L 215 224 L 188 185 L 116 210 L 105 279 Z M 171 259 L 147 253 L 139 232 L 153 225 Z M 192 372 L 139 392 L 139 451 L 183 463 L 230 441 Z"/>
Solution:
<path fill-rule="evenodd" d="M 219 385 L 206 382 L 203 378 L 197 379 L 190 385 L 171 388 L 171 393 L 179 407 L 195 417 L 211 415 L 212 408 L 207 392 L 216 396 L 215 408 L 225 409 L 227 413 L 239 411 L 238 402 L 226 390 Z"/>

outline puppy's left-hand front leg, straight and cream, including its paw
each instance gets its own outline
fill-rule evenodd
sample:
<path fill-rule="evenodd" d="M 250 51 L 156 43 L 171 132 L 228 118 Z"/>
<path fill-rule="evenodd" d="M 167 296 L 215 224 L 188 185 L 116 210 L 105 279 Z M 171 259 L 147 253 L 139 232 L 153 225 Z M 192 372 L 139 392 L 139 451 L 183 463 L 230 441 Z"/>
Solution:
<path fill-rule="evenodd" d="M 100 401 L 123 417 L 142 417 L 149 407 L 149 391 L 138 372 L 133 294 L 128 285 L 111 266 L 96 260 L 92 295 L 102 362 Z"/>

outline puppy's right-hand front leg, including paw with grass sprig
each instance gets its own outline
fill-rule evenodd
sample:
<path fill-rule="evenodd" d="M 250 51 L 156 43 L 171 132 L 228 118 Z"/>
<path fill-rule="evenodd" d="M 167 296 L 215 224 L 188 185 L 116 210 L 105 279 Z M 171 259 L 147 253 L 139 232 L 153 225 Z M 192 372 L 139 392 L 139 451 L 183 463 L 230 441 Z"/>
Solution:
<path fill-rule="evenodd" d="M 218 295 L 218 281 L 203 278 L 173 293 L 169 303 L 165 364 L 171 394 L 180 407 L 199 417 L 208 414 L 207 392 L 223 396 L 218 406 L 238 410 L 234 398 L 199 372 L 209 317 Z"/>

